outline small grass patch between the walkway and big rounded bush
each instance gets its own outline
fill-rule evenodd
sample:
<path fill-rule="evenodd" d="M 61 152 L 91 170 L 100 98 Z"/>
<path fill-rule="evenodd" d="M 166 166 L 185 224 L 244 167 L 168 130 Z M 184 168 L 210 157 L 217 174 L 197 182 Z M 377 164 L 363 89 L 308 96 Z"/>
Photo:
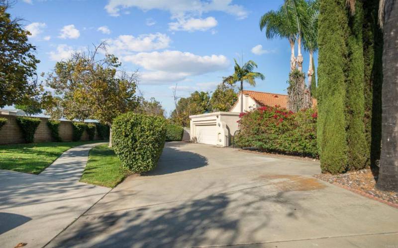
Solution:
<path fill-rule="evenodd" d="M 80 182 L 115 187 L 129 174 L 108 145 L 94 147 Z"/>

